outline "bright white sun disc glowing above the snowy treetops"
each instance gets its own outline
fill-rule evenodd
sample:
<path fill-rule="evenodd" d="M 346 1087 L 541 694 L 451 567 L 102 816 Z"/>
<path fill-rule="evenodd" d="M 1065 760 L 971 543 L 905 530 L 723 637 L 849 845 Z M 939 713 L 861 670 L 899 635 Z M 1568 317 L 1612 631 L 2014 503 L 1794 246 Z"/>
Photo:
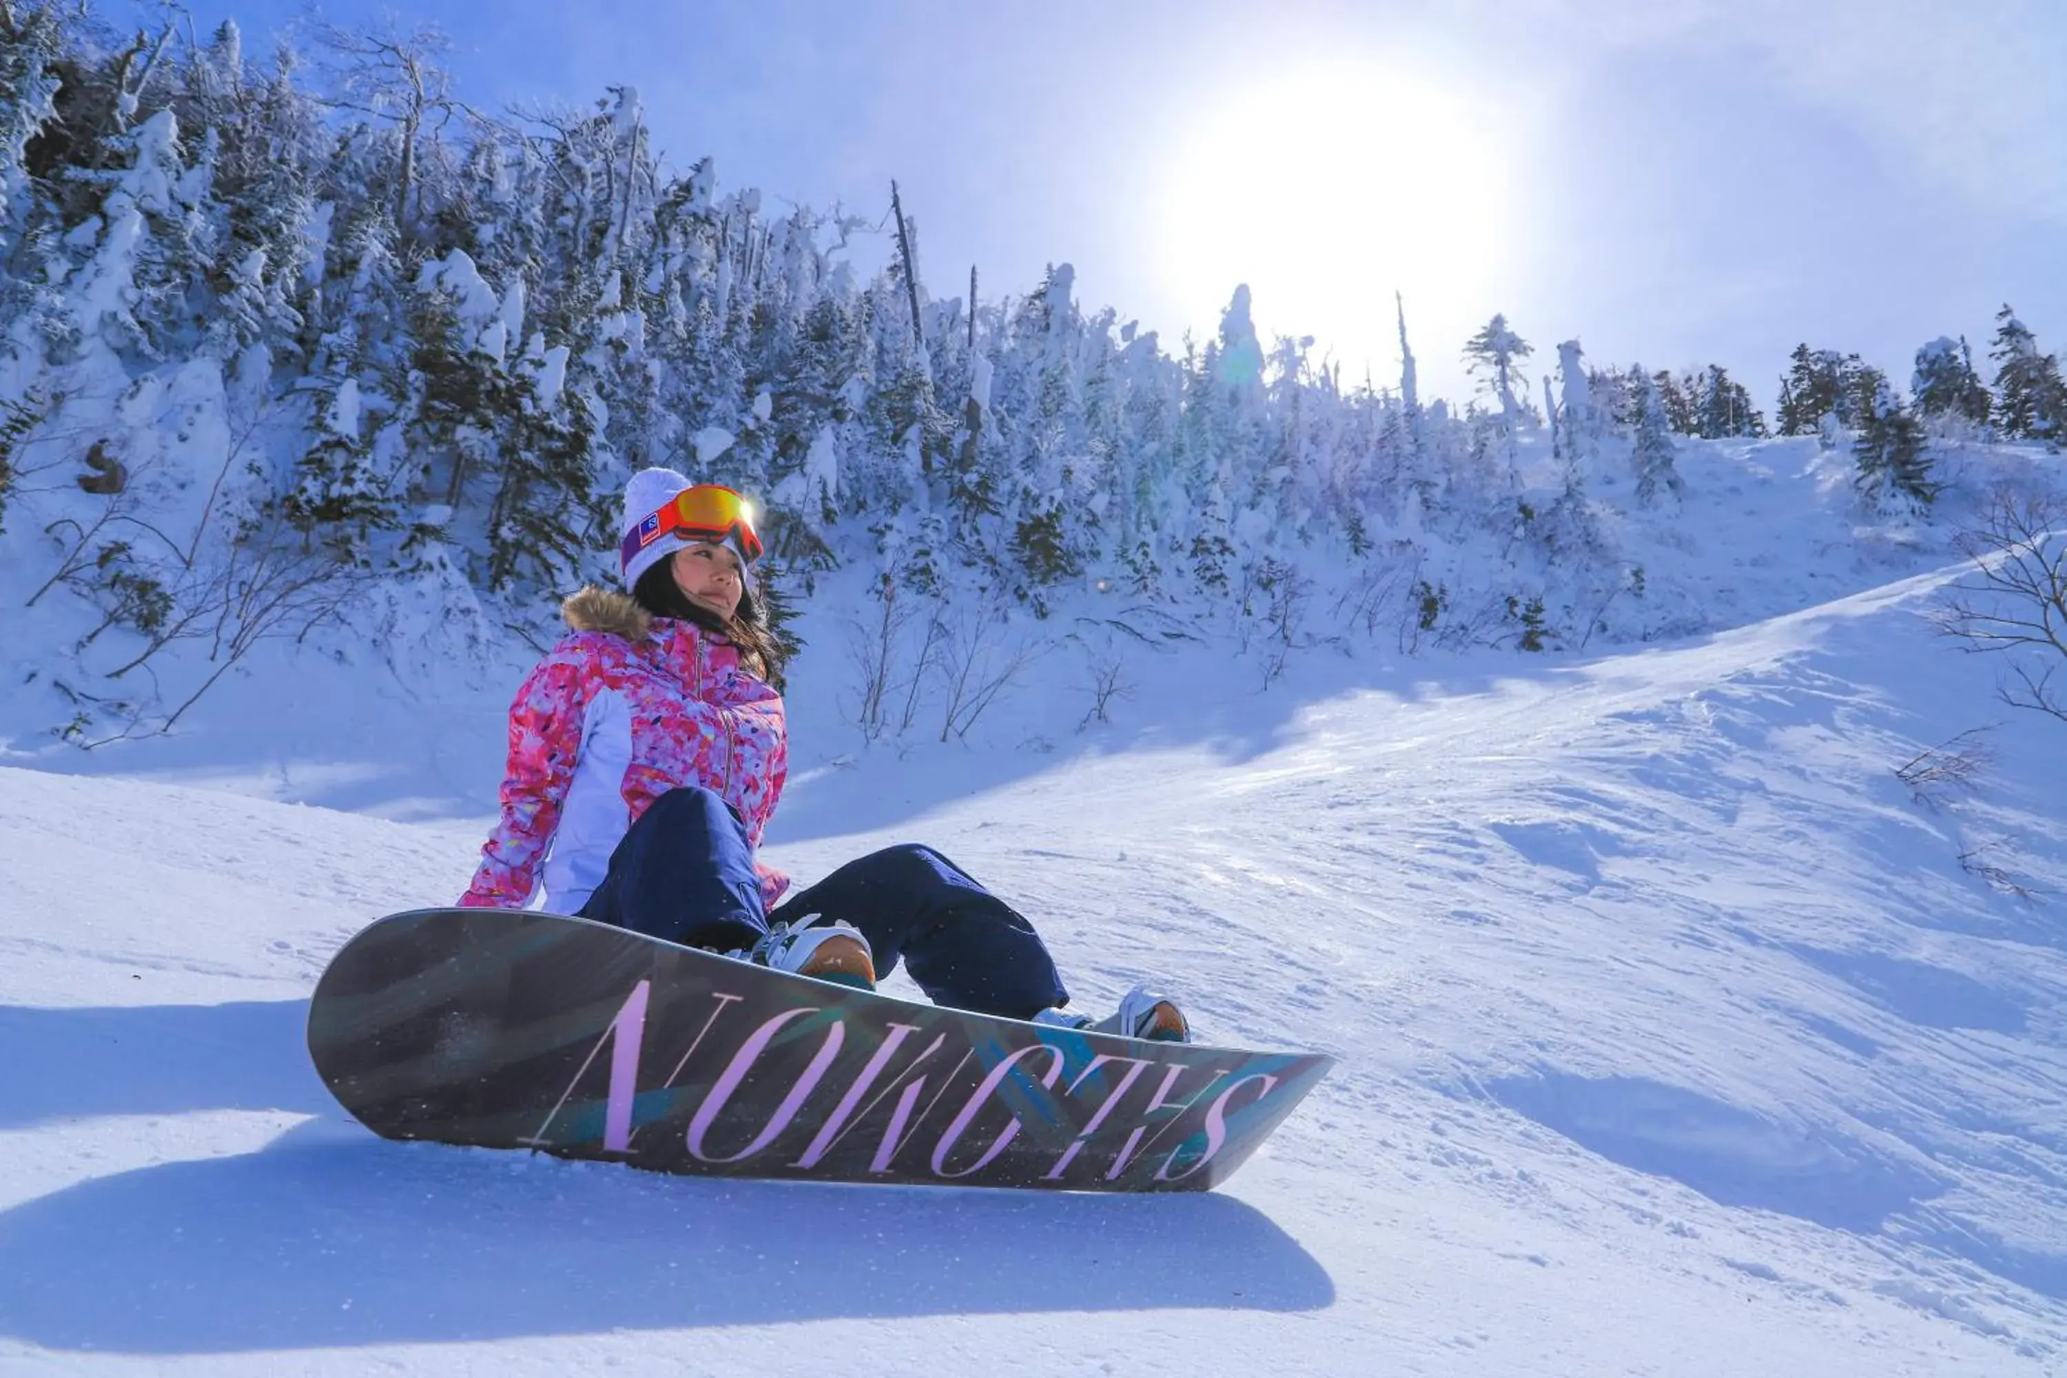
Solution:
<path fill-rule="evenodd" d="M 1492 112 L 1356 62 L 1228 91 L 1189 130 L 1158 198 L 1164 291 L 1197 320 L 1248 283 L 1263 343 L 1313 335 L 1337 359 L 1393 357 L 1408 312 L 1472 310 L 1517 225 Z M 1420 349 L 1416 349 L 1420 353 Z"/>

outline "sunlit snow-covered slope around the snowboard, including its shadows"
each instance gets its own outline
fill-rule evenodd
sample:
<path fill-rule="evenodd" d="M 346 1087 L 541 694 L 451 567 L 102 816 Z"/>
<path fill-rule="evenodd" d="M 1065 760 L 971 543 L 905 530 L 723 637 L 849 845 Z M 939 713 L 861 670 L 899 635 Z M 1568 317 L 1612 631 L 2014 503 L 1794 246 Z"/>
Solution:
<path fill-rule="evenodd" d="M 1182 1200 L 374 1140 L 304 1000 L 477 822 L 0 771 L 0 1368 L 2059 1372 L 2067 735 L 1935 578 L 1360 688 L 1193 649 L 1137 669 L 1191 717 L 1093 750 L 802 769 L 777 864 L 926 839 L 1079 1002 L 1341 1058 Z M 1893 777 L 1988 721 L 1976 789 Z"/>

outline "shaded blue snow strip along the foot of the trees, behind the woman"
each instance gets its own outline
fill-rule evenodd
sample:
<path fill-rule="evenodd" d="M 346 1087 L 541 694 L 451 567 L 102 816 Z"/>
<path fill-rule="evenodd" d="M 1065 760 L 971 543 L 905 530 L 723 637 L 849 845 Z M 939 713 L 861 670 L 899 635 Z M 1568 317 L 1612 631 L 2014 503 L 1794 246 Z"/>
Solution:
<path fill-rule="evenodd" d="M 806 622 L 808 651 L 792 665 L 785 692 L 790 789 L 771 843 L 808 843 L 860 828 L 895 828 L 971 793 L 1002 789 L 1081 756 L 1205 748 L 1230 766 L 1298 735 L 1300 715 L 1354 692 L 1399 702 L 1497 692 L 1503 682 L 1585 676 L 1598 657 L 1517 663 L 1503 653 L 1344 655 L 1302 649 L 1286 674 L 1263 686 L 1261 655 L 1238 655 L 1222 636 L 1114 632 L 1116 620 L 1071 618 L 1021 628 L 1048 645 L 1000 692 L 967 738 L 940 740 L 940 707 L 928 702 L 895 740 L 864 742 L 854 725 L 854 669 L 847 632 L 835 620 Z M 1129 694 L 1108 723 L 1087 723 L 1085 636 L 1120 636 Z M 378 659 L 335 665 L 291 657 L 256 661 L 182 719 L 169 735 L 116 742 L 95 752 L 43 746 L 10 764 L 60 775 L 147 779 L 399 822 L 477 822 L 496 812 L 508 698 L 533 663 L 506 647 L 496 669 L 455 665 L 413 692 Z M 291 686 L 296 711 L 281 711 Z M 0 740 L 17 719 L 0 715 Z M 23 742 L 48 738 L 50 723 L 19 719 Z M 827 766 L 827 762 L 845 766 Z M 924 839 L 918 839 L 924 841 Z"/>

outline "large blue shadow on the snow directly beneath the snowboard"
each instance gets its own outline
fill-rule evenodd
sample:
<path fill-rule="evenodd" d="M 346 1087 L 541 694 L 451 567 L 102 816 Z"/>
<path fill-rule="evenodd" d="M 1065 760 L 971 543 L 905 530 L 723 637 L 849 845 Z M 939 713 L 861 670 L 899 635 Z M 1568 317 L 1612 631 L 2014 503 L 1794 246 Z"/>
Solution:
<path fill-rule="evenodd" d="M 1226 1194 L 666 1178 L 391 1145 L 335 1118 L 0 1215 L 0 1333 L 70 1351 L 1333 1299 L 1304 1248 Z"/>

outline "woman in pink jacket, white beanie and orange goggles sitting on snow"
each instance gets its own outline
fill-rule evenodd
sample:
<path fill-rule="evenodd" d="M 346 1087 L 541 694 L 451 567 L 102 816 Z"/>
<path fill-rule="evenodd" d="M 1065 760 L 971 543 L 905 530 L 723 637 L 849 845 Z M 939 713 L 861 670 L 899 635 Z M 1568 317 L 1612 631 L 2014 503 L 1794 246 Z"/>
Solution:
<path fill-rule="evenodd" d="M 781 800 L 781 649 L 754 597 L 752 512 L 672 469 L 624 490 L 624 587 L 566 599 L 573 634 L 511 704 L 502 818 L 461 905 L 558 913 L 874 990 L 903 961 L 936 1004 L 1186 1039 L 1170 1000 L 1069 1002 L 1034 926 L 930 847 L 841 866 L 785 903 L 754 849 Z"/>

